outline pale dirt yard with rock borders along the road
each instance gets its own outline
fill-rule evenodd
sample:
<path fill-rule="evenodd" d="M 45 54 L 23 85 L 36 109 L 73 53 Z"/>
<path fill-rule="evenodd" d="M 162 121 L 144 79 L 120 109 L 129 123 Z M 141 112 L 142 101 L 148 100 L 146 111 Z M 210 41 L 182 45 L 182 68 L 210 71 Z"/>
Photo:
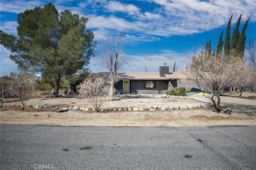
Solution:
<path fill-rule="evenodd" d="M 232 100 L 232 97 L 223 97 L 229 106 L 233 107 L 231 114 L 217 113 L 212 108 L 184 109 L 161 111 L 38 111 L 20 107 L 4 107 L 0 109 L 0 123 L 2 124 L 44 124 L 64 126 L 209 126 L 209 125 L 256 125 L 256 93 L 244 93 L 242 99 Z M 234 103 L 230 104 L 230 101 Z M 238 102 L 237 102 L 238 101 Z M 204 103 L 194 99 L 179 98 L 122 98 L 118 101 L 108 101 L 102 108 L 110 107 L 142 107 L 150 106 L 187 106 Z M 248 103 L 250 103 L 248 105 Z M 5 102 L 20 104 L 20 102 Z M 56 105 L 91 107 L 76 96 L 59 98 L 36 98 L 26 102 L 26 105 Z"/>

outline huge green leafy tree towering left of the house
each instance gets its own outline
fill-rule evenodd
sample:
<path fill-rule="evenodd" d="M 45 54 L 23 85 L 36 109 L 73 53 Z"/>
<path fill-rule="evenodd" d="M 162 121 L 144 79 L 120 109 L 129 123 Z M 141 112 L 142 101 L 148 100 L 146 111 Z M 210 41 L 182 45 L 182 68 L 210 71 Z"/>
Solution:
<path fill-rule="evenodd" d="M 89 64 L 94 56 L 94 34 L 86 30 L 88 18 L 65 10 L 58 14 L 52 3 L 18 14 L 18 37 L 0 31 L 0 43 L 9 49 L 20 70 L 44 75 L 58 94 L 61 79 Z"/>

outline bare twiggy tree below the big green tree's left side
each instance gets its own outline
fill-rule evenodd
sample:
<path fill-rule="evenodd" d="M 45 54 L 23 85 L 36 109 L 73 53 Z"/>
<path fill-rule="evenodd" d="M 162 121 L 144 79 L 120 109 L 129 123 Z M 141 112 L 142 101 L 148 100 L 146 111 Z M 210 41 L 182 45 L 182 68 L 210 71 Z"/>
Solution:
<path fill-rule="evenodd" d="M 13 94 L 20 99 L 22 110 L 29 99 L 34 98 L 36 93 L 35 76 L 29 73 L 11 74 Z"/>

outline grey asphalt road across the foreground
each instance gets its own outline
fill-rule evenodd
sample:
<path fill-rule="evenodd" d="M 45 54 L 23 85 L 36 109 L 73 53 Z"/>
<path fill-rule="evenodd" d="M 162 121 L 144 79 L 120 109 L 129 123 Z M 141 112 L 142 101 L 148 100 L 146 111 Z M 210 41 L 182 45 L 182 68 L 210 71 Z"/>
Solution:
<path fill-rule="evenodd" d="M 256 169 L 256 126 L 0 125 L 0 169 Z"/>

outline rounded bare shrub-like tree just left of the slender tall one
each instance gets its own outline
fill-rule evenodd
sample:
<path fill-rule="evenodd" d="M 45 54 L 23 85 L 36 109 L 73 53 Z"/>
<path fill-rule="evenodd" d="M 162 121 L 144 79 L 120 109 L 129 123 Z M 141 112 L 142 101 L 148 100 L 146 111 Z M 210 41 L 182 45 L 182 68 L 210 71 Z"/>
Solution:
<path fill-rule="evenodd" d="M 109 84 L 106 79 L 99 76 L 88 76 L 77 86 L 78 94 L 84 101 L 92 106 L 97 112 L 106 101 L 109 94 Z"/>

